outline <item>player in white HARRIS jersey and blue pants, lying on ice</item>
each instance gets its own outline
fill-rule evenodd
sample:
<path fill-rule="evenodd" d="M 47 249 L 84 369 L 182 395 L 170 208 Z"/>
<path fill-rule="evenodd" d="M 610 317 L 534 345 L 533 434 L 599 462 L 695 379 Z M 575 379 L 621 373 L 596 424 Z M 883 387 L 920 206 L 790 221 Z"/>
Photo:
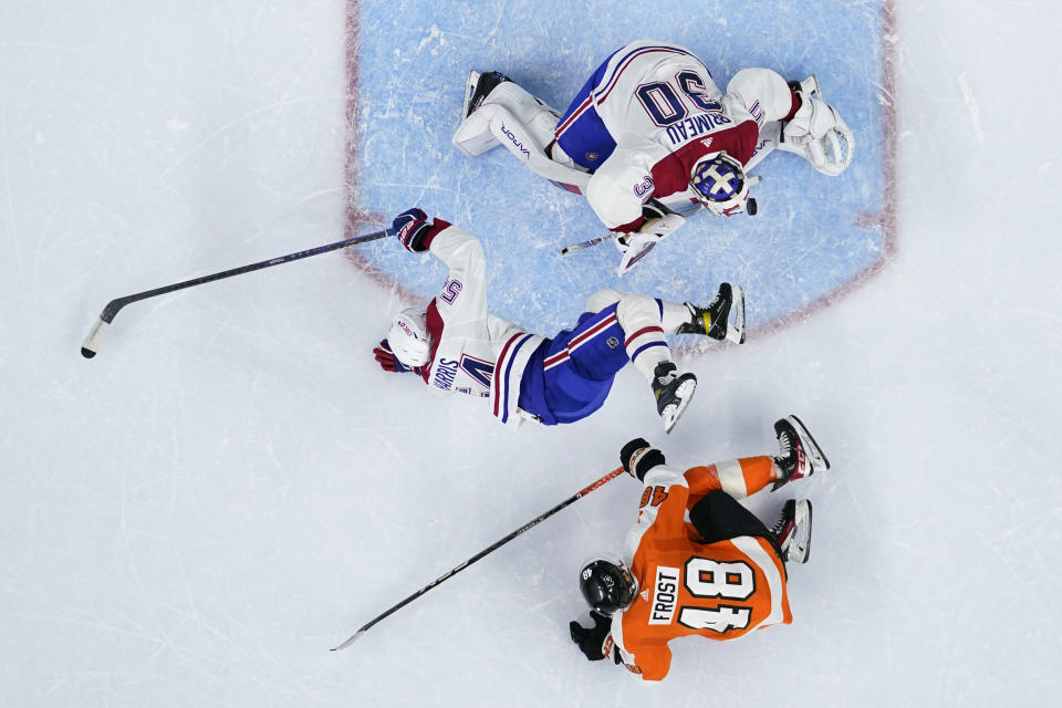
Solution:
<path fill-rule="evenodd" d="M 664 429 L 689 405 L 697 378 L 679 374 L 665 335 L 745 341 L 745 295 L 729 283 L 707 306 L 600 290 L 575 326 L 552 339 L 524 332 L 487 311 L 487 264 L 476 237 L 420 209 L 394 219 L 409 251 L 430 250 L 449 268 L 426 309 L 404 310 L 373 350 L 388 372 L 415 372 L 437 392 L 489 399 L 496 417 L 518 426 L 574 423 L 600 408 L 616 373 L 632 362 L 653 387 Z"/>

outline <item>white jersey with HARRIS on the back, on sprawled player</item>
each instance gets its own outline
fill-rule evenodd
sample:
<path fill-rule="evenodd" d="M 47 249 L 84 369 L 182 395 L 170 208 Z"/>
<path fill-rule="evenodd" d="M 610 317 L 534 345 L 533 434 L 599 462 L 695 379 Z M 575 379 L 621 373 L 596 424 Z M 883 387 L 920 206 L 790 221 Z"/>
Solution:
<path fill-rule="evenodd" d="M 519 426 L 520 381 L 543 337 L 487 311 L 486 259 L 476 237 L 446 226 L 431 236 L 429 250 L 449 274 L 427 308 L 433 346 L 420 376 L 436 393 L 490 398 L 494 416 Z"/>

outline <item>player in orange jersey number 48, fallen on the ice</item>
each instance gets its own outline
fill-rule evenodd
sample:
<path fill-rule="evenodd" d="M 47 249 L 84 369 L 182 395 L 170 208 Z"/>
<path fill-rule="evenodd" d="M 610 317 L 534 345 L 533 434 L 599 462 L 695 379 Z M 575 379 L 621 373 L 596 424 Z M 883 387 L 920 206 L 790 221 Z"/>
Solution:
<path fill-rule="evenodd" d="M 638 521 L 622 560 L 595 560 L 580 574 L 593 628 L 569 625 L 586 658 L 612 658 L 647 680 L 667 675 L 676 637 L 733 639 L 790 624 L 785 562 L 805 563 L 811 502 L 789 500 L 768 529 L 738 499 L 830 469 L 796 416 L 774 424 L 781 454 L 680 472 L 642 438 L 620 452 L 643 483 Z M 689 521 L 686 521 L 688 513 Z"/>

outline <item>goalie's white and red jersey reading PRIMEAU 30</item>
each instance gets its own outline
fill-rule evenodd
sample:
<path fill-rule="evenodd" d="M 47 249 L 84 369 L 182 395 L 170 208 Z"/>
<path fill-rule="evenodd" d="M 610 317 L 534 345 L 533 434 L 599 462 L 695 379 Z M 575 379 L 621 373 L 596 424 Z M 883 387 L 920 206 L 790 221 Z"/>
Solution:
<path fill-rule="evenodd" d="M 738 72 L 722 95 L 689 50 L 632 42 L 610 58 L 556 134 L 596 110 L 616 148 L 591 177 L 586 199 L 606 227 L 628 231 L 641 225 L 649 198 L 696 201 L 690 174 L 705 156 L 726 150 L 748 164 L 762 147 L 760 128 L 796 105 L 785 80 L 769 69 Z"/>

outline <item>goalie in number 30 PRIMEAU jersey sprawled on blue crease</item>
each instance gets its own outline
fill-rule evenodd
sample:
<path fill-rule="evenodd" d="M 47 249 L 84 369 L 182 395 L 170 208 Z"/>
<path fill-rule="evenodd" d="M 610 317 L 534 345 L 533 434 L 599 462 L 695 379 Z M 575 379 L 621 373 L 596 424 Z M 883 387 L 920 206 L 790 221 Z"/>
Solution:
<path fill-rule="evenodd" d="M 563 116 L 503 74 L 471 72 L 462 118 L 452 142 L 469 157 L 501 144 L 585 194 L 602 222 L 626 235 L 614 241 L 624 264 L 681 226 L 668 210 L 754 214 L 747 174 L 775 147 L 826 175 L 841 174 L 855 148 L 814 76 L 787 83 L 770 69 L 743 69 L 723 95 L 689 50 L 648 41 L 613 52 Z M 657 206 L 644 208 L 650 199 Z"/>

